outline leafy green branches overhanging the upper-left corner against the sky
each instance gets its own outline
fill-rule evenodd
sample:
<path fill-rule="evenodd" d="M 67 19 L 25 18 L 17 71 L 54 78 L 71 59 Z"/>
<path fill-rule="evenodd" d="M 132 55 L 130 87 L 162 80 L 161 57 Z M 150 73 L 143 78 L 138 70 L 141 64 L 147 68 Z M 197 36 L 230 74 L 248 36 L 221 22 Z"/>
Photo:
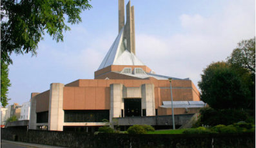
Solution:
<path fill-rule="evenodd" d="M 2 0 L 1 60 L 12 64 L 11 53 L 36 54 L 44 30 L 63 41 L 67 23 L 81 22 L 81 11 L 92 8 L 90 0 Z M 67 18 L 67 21 L 65 21 Z"/>

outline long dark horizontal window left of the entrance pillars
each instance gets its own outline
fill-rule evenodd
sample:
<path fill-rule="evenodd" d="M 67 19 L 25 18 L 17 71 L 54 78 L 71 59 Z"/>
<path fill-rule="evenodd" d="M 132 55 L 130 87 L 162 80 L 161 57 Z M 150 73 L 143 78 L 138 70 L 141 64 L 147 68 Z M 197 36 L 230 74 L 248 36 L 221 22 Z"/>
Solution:
<path fill-rule="evenodd" d="M 102 122 L 109 120 L 109 110 L 64 111 L 64 122 Z"/>

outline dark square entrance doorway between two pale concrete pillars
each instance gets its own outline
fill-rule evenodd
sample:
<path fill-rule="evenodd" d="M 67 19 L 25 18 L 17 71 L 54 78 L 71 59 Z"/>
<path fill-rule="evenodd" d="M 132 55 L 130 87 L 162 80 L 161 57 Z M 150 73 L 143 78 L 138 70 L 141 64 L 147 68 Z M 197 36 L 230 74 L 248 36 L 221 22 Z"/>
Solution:
<path fill-rule="evenodd" d="M 141 116 L 141 98 L 124 99 L 124 116 Z"/>

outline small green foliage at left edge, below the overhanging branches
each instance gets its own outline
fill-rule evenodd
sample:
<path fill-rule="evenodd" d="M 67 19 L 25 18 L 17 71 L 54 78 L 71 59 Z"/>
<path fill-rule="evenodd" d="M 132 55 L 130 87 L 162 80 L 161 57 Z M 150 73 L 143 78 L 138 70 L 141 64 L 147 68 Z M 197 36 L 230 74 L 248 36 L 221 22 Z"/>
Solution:
<path fill-rule="evenodd" d="M 8 105 L 9 98 L 7 94 L 9 91 L 9 87 L 11 86 L 8 75 L 8 64 L 5 64 L 5 62 L 1 62 L 1 103 L 2 107 L 4 108 L 6 105 Z"/>

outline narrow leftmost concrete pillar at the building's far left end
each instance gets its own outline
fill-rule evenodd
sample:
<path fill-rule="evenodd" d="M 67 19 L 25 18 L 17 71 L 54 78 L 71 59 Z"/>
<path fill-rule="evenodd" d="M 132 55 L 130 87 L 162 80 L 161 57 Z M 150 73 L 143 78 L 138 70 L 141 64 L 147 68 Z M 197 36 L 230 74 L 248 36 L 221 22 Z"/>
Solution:
<path fill-rule="evenodd" d="M 38 94 L 40 93 L 31 93 L 29 129 L 36 129 L 36 95 Z"/>

